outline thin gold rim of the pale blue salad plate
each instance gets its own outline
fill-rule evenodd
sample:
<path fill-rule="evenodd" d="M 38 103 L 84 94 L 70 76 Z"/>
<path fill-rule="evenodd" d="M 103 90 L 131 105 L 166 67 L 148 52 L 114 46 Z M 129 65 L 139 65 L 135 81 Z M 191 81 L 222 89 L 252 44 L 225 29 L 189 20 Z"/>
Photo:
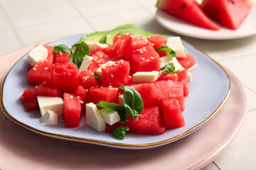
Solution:
<path fill-rule="evenodd" d="M 75 36 L 75 35 L 73 35 Z M 61 40 L 61 39 L 60 39 Z M 54 40 L 53 42 L 55 42 L 56 40 Z M 184 40 L 183 40 L 184 41 Z M 185 41 L 186 42 L 186 41 Z M 50 42 L 48 42 L 50 43 Z M 188 42 L 187 42 L 188 43 Z M 189 45 L 191 45 L 191 43 L 188 43 Z M 196 50 L 203 52 L 202 50 L 198 49 L 198 47 L 193 46 Z M 26 53 L 27 54 L 27 53 Z M 26 55 L 25 54 L 25 55 Z M 210 60 L 213 60 L 212 57 L 210 57 L 209 55 L 206 54 L 206 52 L 203 52 L 204 55 L 206 55 L 207 57 L 210 58 Z M 21 58 L 23 58 L 25 55 L 23 55 Z M 19 60 L 21 60 L 21 58 Z M 19 61 L 18 60 L 18 61 Z M 18 62 L 17 61 L 17 62 Z M 16 63 L 17 63 L 16 62 Z M 6 77 L 9 74 L 9 72 L 11 71 L 11 69 L 14 67 L 14 65 L 16 65 L 16 63 L 11 67 L 11 69 L 9 70 L 9 72 L 6 74 L 6 77 L 4 78 L 3 84 L 2 84 L 2 88 L 1 88 L 1 109 L 4 112 L 4 114 L 11 119 L 12 121 L 14 121 L 15 123 L 17 123 L 18 125 L 23 126 L 24 128 L 27 128 L 28 130 L 32 130 L 33 132 L 37 132 L 41 135 L 46 135 L 49 137 L 55 137 L 58 139 L 63 139 L 63 140 L 73 140 L 73 141 L 78 141 L 78 142 L 86 142 L 86 143 L 91 143 L 91 144 L 95 144 L 95 145 L 105 145 L 105 146 L 110 146 L 110 147 L 117 147 L 117 148 L 127 148 L 127 149 L 146 149 L 146 148 L 151 148 L 151 147 L 157 147 L 157 146 L 161 146 L 161 145 L 165 145 L 168 144 L 169 142 L 174 142 L 175 140 L 181 139 L 182 137 L 185 137 L 186 135 L 191 134 L 191 132 L 197 130 L 198 128 L 200 128 L 202 125 L 204 125 L 205 123 L 208 122 L 208 120 L 210 120 L 211 118 L 213 118 L 213 116 L 220 110 L 220 108 L 223 106 L 223 104 L 225 103 L 225 101 L 227 100 L 230 91 L 231 91 L 231 81 L 230 81 L 230 77 L 228 76 L 228 73 L 225 71 L 225 69 L 215 60 L 213 60 L 213 62 L 215 62 L 216 64 L 218 64 L 218 66 L 223 69 L 223 72 L 225 72 L 226 76 L 228 77 L 228 81 L 229 81 L 229 88 L 228 88 L 228 93 L 226 94 L 225 98 L 223 99 L 223 101 L 220 103 L 220 105 L 218 106 L 218 108 L 215 109 L 215 111 L 213 111 L 213 113 L 211 113 L 208 118 L 206 118 L 206 120 L 203 120 L 201 123 L 198 123 L 197 125 L 193 126 L 193 128 L 190 128 L 189 130 L 186 130 L 186 132 L 183 132 L 180 135 L 177 135 L 175 137 L 171 137 L 169 139 L 166 140 L 161 140 L 159 142 L 151 142 L 151 143 L 146 143 L 146 144 L 124 144 L 124 143 L 119 143 L 119 142 L 107 142 L 104 140 L 93 140 L 93 139 L 87 139 L 87 138 L 82 138 L 82 137 L 73 137 L 73 136 L 68 136 L 68 135 L 59 135 L 59 134 L 55 134 L 55 133 L 50 133 L 50 132 L 44 132 L 42 130 L 38 130 L 36 128 L 33 128 L 29 125 L 26 125 L 24 123 L 21 123 L 20 121 L 16 120 L 16 118 L 12 117 L 8 111 L 6 111 L 6 108 L 4 107 L 4 102 L 3 102 L 3 90 L 4 90 L 4 83 L 6 81 Z"/>

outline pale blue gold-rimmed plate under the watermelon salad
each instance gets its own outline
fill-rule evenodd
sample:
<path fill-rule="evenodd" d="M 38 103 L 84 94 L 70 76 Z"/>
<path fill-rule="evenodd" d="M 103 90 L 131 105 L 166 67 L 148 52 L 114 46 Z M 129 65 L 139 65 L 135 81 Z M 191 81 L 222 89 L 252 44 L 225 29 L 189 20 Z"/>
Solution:
<path fill-rule="evenodd" d="M 75 35 L 50 43 L 50 45 L 65 44 L 72 46 L 82 37 Z M 38 111 L 25 112 L 19 97 L 24 90 L 33 88 L 27 83 L 26 73 L 28 63 L 26 55 L 18 60 L 4 80 L 1 96 L 1 107 L 4 113 L 14 122 L 42 135 L 65 140 L 88 142 L 109 147 L 126 149 L 146 149 L 166 145 L 186 137 L 201 128 L 217 113 L 230 93 L 230 79 L 225 70 L 205 53 L 197 50 L 187 42 L 183 42 L 188 52 L 196 57 L 198 66 L 191 71 L 193 81 L 189 83 L 190 96 L 185 98 L 183 111 L 186 125 L 182 128 L 168 130 L 163 135 L 133 135 L 128 134 L 124 140 L 117 140 L 106 132 L 96 132 L 85 125 L 85 115 L 82 115 L 79 128 L 65 128 L 60 118 L 58 126 L 41 126 Z"/>

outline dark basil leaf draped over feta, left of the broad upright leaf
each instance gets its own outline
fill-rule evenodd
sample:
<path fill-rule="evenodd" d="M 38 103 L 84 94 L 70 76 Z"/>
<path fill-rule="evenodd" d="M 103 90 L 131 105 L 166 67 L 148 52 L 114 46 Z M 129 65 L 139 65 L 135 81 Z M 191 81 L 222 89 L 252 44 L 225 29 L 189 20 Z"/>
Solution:
<path fill-rule="evenodd" d="M 118 115 L 120 116 L 121 123 L 124 123 L 127 120 L 127 113 L 125 111 L 124 106 L 121 106 L 117 103 L 108 103 L 107 101 L 99 101 L 97 103 L 97 107 L 99 109 L 107 108 L 114 111 L 117 111 Z"/>

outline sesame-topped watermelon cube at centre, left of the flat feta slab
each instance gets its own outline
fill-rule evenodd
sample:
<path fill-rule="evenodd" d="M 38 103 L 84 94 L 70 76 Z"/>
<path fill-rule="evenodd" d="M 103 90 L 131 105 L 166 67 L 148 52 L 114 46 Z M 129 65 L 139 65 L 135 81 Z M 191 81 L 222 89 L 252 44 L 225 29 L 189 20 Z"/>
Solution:
<path fill-rule="evenodd" d="M 102 80 L 105 86 L 119 87 L 128 83 L 129 62 L 119 60 L 112 65 L 102 67 Z"/>

